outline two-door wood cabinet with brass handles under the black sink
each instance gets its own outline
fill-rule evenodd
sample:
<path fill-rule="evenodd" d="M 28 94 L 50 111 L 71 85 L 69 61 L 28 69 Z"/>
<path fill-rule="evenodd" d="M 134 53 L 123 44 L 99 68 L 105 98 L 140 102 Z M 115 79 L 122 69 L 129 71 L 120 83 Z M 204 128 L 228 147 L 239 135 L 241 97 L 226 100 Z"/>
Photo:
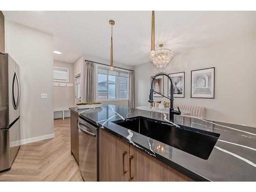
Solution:
<path fill-rule="evenodd" d="M 191 181 L 103 129 L 99 138 L 100 181 Z"/>

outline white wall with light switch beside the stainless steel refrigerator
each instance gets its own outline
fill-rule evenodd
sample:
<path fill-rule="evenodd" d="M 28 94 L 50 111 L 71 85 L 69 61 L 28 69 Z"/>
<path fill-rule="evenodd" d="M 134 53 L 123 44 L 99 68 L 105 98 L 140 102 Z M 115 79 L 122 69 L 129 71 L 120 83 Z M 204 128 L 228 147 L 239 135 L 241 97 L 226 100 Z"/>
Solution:
<path fill-rule="evenodd" d="M 22 143 L 51 138 L 54 136 L 53 36 L 7 19 L 5 35 L 6 52 L 20 67 Z M 41 93 L 47 93 L 47 99 L 41 99 Z"/>

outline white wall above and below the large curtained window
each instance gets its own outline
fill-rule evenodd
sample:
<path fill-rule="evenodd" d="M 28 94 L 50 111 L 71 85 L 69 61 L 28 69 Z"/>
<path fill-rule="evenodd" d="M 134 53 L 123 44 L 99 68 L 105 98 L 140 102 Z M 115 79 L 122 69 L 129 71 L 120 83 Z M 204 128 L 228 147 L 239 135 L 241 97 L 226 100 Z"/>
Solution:
<path fill-rule="evenodd" d="M 108 65 L 110 63 L 109 60 L 101 59 L 101 58 L 98 58 L 95 56 L 82 55 L 74 62 L 74 75 L 81 73 L 82 65 L 85 62 L 85 60 L 100 62 L 100 63 L 104 63 L 106 65 Z M 113 65 L 116 67 L 133 70 L 133 66 L 123 65 L 118 62 L 113 62 Z M 75 95 L 75 92 L 74 92 L 74 95 Z M 122 105 L 122 106 L 128 106 L 128 100 L 127 101 L 102 101 L 102 103 L 103 104 L 117 104 L 117 105 Z"/>

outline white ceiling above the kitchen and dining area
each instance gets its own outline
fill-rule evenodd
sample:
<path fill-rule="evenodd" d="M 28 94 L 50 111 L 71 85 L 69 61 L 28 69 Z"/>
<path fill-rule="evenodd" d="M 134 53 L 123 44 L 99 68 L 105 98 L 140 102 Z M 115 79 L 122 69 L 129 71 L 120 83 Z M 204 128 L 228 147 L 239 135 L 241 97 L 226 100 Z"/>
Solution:
<path fill-rule="evenodd" d="M 151 11 L 3 11 L 7 19 L 53 34 L 54 59 L 73 63 L 83 54 L 109 60 L 111 26 L 114 61 L 150 61 Z M 256 32 L 255 11 L 156 11 L 156 44 L 174 54 L 196 46 Z M 175 55 L 174 55 L 175 56 Z"/>

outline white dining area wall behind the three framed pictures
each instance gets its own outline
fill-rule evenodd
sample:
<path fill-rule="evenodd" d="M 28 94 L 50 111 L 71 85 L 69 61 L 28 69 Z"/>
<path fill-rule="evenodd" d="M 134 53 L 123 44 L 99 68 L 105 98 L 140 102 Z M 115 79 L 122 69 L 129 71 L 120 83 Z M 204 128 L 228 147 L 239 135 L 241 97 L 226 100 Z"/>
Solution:
<path fill-rule="evenodd" d="M 163 70 L 185 71 L 185 98 L 175 103 L 206 107 L 206 119 L 256 127 L 256 38 L 226 39 L 213 45 L 175 54 Z M 190 71 L 215 67 L 215 99 L 190 98 Z M 150 77 L 158 72 L 153 63 L 135 67 L 135 105 L 147 105 Z M 167 96 L 167 77 L 164 78 Z M 159 100 L 161 98 L 155 98 Z"/>

